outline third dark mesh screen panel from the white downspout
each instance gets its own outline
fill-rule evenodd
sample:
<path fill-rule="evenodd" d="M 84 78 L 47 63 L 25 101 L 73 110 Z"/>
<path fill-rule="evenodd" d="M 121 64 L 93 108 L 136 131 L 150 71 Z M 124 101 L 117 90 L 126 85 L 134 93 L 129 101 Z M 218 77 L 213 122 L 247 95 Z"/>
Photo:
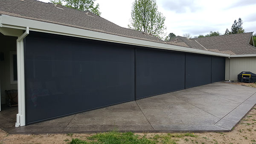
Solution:
<path fill-rule="evenodd" d="M 186 88 L 211 83 L 211 56 L 186 54 Z"/>

